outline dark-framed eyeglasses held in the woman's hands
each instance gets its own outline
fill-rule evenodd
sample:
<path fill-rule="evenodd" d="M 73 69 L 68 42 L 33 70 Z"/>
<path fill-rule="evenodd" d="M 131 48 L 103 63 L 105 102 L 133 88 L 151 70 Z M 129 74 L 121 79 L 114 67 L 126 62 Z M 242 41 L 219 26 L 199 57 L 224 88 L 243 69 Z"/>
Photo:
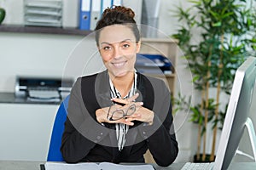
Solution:
<path fill-rule="evenodd" d="M 116 105 L 111 105 L 108 109 L 107 119 L 109 121 L 118 121 L 119 119 L 125 118 L 125 116 L 131 116 L 136 111 L 136 105 L 130 105 L 125 111 L 123 109 L 117 108 Z"/>

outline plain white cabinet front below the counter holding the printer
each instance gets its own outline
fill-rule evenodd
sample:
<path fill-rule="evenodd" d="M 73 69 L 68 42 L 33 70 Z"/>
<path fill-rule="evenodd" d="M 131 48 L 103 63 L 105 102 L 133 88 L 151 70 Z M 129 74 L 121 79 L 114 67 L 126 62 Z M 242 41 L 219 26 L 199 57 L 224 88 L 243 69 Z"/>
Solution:
<path fill-rule="evenodd" d="M 0 160 L 46 161 L 57 108 L 0 104 Z"/>

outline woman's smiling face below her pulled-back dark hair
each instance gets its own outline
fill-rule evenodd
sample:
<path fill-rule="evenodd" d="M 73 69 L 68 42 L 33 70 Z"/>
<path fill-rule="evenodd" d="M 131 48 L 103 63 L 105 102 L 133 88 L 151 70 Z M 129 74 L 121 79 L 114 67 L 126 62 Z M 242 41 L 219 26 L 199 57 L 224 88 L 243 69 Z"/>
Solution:
<path fill-rule="evenodd" d="M 98 48 L 112 77 L 124 77 L 134 71 L 140 42 L 136 42 L 131 28 L 122 25 L 104 27 L 100 32 Z"/>

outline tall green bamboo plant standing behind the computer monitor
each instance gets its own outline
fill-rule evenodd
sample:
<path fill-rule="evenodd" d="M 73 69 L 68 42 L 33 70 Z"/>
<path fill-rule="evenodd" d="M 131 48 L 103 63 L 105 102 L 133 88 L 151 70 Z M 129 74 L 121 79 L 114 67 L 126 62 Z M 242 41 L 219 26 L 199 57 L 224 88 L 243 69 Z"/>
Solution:
<path fill-rule="evenodd" d="M 187 98 L 179 96 L 174 102 L 177 109 L 189 109 L 190 120 L 198 124 L 195 161 L 214 161 L 216 135 L 228 105 L 228 100 L 220 105 L 220 95 L 230 95 L 237 67 L 247 58 L 248 51 L 256 49 L 255 5 L 253 0 L 189 2 L 190 8 L 177 7 L 175 11 L 181 26 L 172 37 L 178 40 L 188 60 L 194 87 L 201 94 L 196 97 L 201 101 L 189 105 Z M 193 41 L 195 37 L 199 41 Z M 212 129 L 207 129 L 209 123 Z M 212 151 L 207 157 L 209 130 L 212 130 Z"/>

